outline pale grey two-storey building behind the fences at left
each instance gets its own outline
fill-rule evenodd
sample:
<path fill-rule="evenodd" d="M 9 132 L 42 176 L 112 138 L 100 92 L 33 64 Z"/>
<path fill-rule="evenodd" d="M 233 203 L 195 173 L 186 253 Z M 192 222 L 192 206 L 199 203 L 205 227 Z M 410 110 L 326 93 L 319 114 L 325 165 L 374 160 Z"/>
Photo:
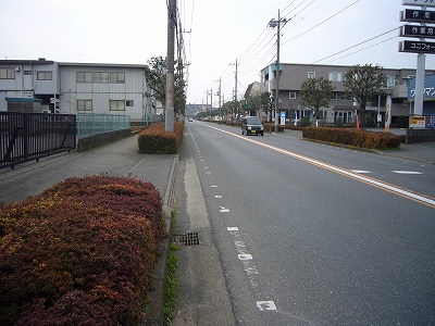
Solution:
<path fill-rule="evenodd" d="M 35 112 L 125 114 L 132 121 L 144 121 L 146 115 L 152 118 L 157 112 L 147 96 L 147 68 L 44 58 L 0 60 L 0 111 L 27 108 Z"/>

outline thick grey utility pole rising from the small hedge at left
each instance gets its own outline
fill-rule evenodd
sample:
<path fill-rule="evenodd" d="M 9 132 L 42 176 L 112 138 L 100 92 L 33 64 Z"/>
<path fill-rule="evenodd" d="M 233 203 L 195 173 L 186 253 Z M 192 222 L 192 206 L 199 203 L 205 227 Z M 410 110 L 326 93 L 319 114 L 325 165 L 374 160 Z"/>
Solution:
<path fill-rule="evenodd" d="M 167 7 L 167 54 L 166 54 L 166 110 L 164 129 L 174 131 L 174 39 L 176 26 L 176 0 L 169 0 Z"/>

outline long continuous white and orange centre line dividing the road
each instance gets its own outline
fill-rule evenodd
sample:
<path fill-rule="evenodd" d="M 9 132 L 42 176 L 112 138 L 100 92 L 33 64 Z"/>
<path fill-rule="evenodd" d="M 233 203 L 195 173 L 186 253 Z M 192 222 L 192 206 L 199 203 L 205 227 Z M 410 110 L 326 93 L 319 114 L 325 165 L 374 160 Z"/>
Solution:
<path fill-rule="evenodd" d="M 378 179 L 366 177 L 364 175 L 355 173 L 355 172 L 352 172 L 350 170 L 347 170 L 347 168 L 344 168 L 344 167 L 339 167 L 339 166 L 335 166 L 333 164 L 328 164 L 328 163 L 325 163 L 325 162 L 322 162 L 322 161 L 319 161 L 319 160 L 315 160 L 315 159 L 311 159 L 309 156 L 300 155 L 298 153 L 295 153 L 295 152 L 291 152 L 291 151 L 288 151 L 288 150 L 283 150 L 281 148 L 277 148 L 277 147 L 264 143 L 264 142 L 260 142 L 258 140 L 253 140 L 253 139 L 250 139 L 250 138 L 247 138 L 247 137 L 241 137 L 241 136 L 236 135 L 234 133 L 222 130 L 222 129 L 219 129 L 216 127 L 209 126 L 207 124 L 201 124 L 201 125 L 203 125 L 204 127 L 211 128 L 211 129 L 220 130 L 221 133 L 231 135 L 233 137 L 240 138 L 240 139 L 243 139 L 245 141 L 250 141 L 252 143 L 256 143 L 258 146 L 264 147 L 266 149 L 271 149 L 271 150 L 276 151 L 278 153 L 282 153 L 284 155 L 287 155 L 287 156 L 290 156 L 290 158 L 295 158 L 297 160 L 300 160 L 300 161 L 310 163 L 312 165 L 315 165 L 315 166 L 332 171 L 332 172 L 337 173 L 337 174 L 341 174 L 344 176 L 353 178 L 356 180 L 359 180 L 359 181 L 362 181 L 364 184 L 374 186 L 376 188 L 389 191 L 391 193 L 396 193 L 396 195 L 406 197 L 408 199 L 411 199 L 411 200 L 418 201 L 420 203 L 426 204 L 426 205 L 428 205 L 431 208 L 435 208 L 435 199 L 433 199 L 431 197 L 424 197 L 422 195 L 412 192 L 411 190 L 402 189 L 402 188 L 399 188 L 397 186 L 389 185 L 389 184 L 386 184 L 384 181 L 381 181 Z"/>

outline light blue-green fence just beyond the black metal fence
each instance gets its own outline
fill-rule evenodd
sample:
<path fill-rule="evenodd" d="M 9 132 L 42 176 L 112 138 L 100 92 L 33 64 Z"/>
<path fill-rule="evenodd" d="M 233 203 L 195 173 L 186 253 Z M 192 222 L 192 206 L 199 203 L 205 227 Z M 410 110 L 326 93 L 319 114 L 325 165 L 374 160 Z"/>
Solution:
<path fill-rule="evenodd" d="M 78 138 L 117 131 L 130 128 L 129 115 L 115 114 L 77 114 Z"/>

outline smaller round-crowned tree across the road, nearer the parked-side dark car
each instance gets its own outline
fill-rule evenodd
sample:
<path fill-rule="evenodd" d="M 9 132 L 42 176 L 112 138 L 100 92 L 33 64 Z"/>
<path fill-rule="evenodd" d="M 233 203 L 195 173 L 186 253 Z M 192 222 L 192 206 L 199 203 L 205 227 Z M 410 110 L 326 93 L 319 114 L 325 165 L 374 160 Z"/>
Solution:
<path fill-rule="evenodd" d="M 335 87 L 331 80 L 320 78 L 308 78 L 300 87 L 301 104 L 314 111 L 313 125 L 320 117 L 320 108 L 328 106 Z"/>

